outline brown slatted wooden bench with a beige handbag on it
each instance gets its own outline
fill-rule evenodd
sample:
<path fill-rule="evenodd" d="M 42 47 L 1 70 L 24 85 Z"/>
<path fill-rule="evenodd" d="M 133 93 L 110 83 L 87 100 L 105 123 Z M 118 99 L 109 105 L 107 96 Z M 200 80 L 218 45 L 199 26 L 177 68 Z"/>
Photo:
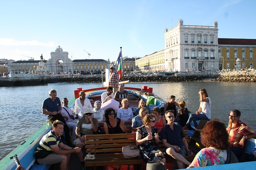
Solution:
<path fill-rule="evenodd" d="M 188 131 L 184 131 L 186 134 Z M 91 154 L 95 154 L 95 160 L 85 160 L 85 167 L 97 167 L 107 165 L 134 165 L 145 164 L 142 159 L 124 158 L 122 147 L 136 145 L 135 133 L 111 134 L 111 135 L 86 135 L 86 154 L 87 149 L 91 149 Z M 164 150 L 165 146 L 160 141 L 158 149 Z M 187 160 L 193 160 L 194 155 L 186 156 Z M 166 156 L 166 162 L 173 162 L 173 158 Z"/>

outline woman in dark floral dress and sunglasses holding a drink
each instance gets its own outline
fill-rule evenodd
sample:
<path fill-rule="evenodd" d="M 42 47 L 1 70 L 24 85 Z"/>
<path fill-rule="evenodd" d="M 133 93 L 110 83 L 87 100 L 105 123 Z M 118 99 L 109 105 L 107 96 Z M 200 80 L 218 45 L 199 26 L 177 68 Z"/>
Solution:
<path fill-rule="evenodd" d="M 161 160 L 165 163 L 165 156 L 155 146 L 160 141 L 155 121 L 156 118 L 153 114 L 145 115 L 144 125 L 139 127 L 136 132 L 136 144 L 139 145 L 140 156 L 145 162 Z"/>

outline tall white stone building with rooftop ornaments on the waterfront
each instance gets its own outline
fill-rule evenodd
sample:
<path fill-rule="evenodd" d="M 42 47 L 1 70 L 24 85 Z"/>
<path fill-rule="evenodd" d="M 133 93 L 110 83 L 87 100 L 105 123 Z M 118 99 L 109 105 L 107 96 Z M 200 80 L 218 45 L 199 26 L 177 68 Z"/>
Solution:
<path fill-rule="evenodd" d="M 166 71 L 218 70 L 218 22 L 214 26 L 178 26 L 165 29 Z"/>

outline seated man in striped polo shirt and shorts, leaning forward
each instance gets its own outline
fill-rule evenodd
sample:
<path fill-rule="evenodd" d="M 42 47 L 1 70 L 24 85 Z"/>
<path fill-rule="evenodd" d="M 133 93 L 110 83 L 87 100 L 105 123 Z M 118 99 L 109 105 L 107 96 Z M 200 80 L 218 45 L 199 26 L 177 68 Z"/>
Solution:
<path fill-rule="evenodd" d="M 64 123 L 55 120 L 52 123 L 52 130 L 42 137 L 38 148 L 36 148 L 36 160 L 41 165 L 52 165 L 60 163 L 60 170 L 69 169 L 71 153 L 78 153 L 81 148 L 71 148 L 62 143 L 61 135 L 64 130 Z"/>

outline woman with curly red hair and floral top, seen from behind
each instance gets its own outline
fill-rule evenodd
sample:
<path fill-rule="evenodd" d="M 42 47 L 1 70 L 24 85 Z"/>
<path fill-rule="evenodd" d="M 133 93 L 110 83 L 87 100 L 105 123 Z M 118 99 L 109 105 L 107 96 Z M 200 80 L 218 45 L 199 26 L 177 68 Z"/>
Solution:
<path fill-rule="evenodd" d="M 211 120 L 200 134 L 201 142 L 207 148 L 201 149 L 196 154 L 188 168 L 226 164 L 228 157 L 232 157 L 230 160 L 233 160 L 228 164 L 238 163 L 235 154 L 229 150 L 229 137 L 224 123 L 217 119 Z"/>

